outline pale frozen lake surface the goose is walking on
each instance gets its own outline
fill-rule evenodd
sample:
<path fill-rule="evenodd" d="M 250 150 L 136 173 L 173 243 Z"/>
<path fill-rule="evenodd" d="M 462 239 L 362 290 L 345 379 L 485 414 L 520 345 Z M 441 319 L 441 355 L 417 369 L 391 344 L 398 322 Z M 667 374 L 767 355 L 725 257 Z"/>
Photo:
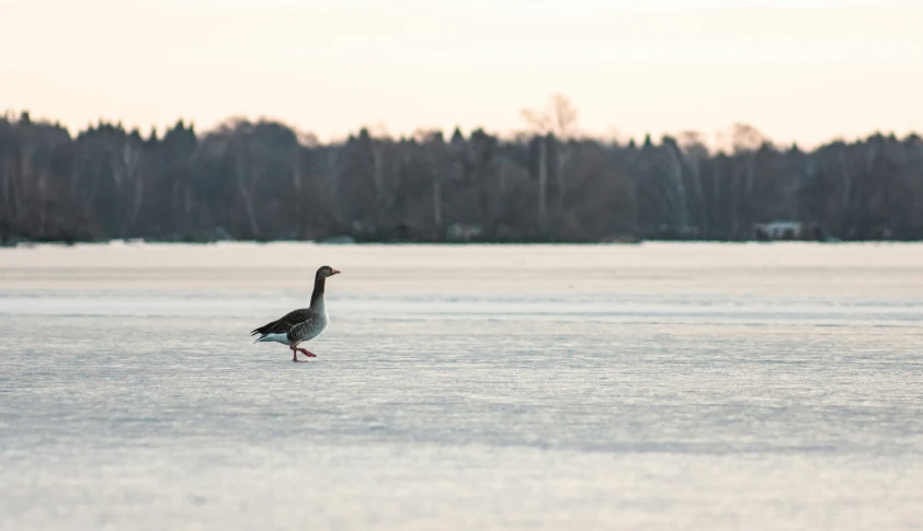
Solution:
<path fill-rule="evenodd" d="M 0 324 L 3 531 L 923 528 L 923 245 L 3 249 Z"/>

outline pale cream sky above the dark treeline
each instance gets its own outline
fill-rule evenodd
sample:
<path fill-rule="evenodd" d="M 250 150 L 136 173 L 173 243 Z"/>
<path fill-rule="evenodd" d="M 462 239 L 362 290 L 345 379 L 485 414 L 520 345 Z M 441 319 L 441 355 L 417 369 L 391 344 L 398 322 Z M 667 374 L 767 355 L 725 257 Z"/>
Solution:
<path fill-rule="evenodd" d="M 71 131 L 509 132 L 554 92 L 622 138 L 923 131 L 918 0 L 0 0 L 0 111 Z"/>

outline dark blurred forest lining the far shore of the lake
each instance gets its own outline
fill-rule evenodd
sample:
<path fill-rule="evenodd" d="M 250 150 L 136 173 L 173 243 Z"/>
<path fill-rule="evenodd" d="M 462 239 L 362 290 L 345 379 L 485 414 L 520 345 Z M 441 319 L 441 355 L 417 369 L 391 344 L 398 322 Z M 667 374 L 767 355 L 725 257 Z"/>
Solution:
<path fill-rule="evenodd" d="M 580 135 L 563 96 L 524 132 L 363 128 L 322 143 L 273 119 L 76 136 L 0 116 L 0 242 L 315 240 L 637 242 L 923 239 L 923 140 L 873 134 L 806 151 L 738 124 L 639 142 Z"/>

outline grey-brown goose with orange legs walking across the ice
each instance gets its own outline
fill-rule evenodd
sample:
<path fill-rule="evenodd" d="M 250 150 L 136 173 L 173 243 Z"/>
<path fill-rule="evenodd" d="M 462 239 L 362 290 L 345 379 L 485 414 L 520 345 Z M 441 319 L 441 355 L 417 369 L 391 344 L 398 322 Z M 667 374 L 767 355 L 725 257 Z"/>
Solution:
<path fill-rule="evenodd" d="M 315 274 L 315 290 L 311 293 L 311 305 L 300 310 L 293 310 L 284 316 L 266 323 L 250 332 L 250 335 L 260 334 L 253 343 L 275 342 L 288 345 L 292 349 L 292 361 L 298 361 L 298 353 L 309 358 L 316 358 L 314 353 L 305 348 L 298 348 L 300 343 L 311 340 L 327 327 L 327 307 L 323 304 L 323 288 L 327 278 L 339 275 L 340 272 L 330 267 L 321 266 Z"/>

